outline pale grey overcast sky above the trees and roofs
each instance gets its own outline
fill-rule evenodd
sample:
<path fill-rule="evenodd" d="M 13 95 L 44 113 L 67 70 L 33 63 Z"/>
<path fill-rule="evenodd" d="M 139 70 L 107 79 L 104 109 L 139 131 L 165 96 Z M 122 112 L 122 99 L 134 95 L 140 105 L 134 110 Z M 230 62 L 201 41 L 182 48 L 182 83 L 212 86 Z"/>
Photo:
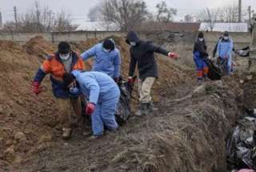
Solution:
<path fill-rule="evenodd" d="M 42 4 L 50 6 L 54 12 L 60 10 L 69 10 L 72 18 L 85 19 L 88 10 L 95 6 L 101 0 L 39 0 Z M 149 10 L 154 10 L 155 5 L 162 0 L 145 0 Z M 175 21 L 180 21 L 186 14 L 197 14 L 199 10 L 206 7 L 226 6 L 229 3 L 238 3 L 238 0 L 166 0 L 168 6 L 178 10 L 178 16 Z M 30 9 L 34 0 L 0 0 L 0 10 L 2 11 L 3 21 L 14 19 L 14 6 L 17 6 L 18 13 L 24 13 Z M 256 0 L 242 0 L 243 10 L 246 11 L 248 6 L 256 11 Z"/>

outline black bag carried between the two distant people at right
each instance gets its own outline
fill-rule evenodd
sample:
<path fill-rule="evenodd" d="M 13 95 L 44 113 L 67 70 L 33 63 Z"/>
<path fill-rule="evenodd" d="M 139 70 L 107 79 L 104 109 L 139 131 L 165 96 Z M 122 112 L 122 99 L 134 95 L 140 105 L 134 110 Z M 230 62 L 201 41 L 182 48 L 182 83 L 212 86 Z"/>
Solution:
<path fill-rule="evenodd" d="M 215 64 L 214 61 L 206 59 L 206 64 L 208 65 L 209 72 L 208 78 L 210 80 L 221 80 L 222 79 L 222 68 L 219 65 Z"/>

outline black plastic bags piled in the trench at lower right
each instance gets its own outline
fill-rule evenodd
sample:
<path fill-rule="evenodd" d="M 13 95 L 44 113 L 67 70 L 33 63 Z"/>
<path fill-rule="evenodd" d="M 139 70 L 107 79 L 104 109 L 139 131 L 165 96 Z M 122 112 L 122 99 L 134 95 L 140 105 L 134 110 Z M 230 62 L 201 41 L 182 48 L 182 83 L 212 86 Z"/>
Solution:
<path fill-rule="evenodd" d="M 226 142 L 226 158 L 231 168 L 256 170 L 256 118 L 246 116 L 230 132 Z"/>

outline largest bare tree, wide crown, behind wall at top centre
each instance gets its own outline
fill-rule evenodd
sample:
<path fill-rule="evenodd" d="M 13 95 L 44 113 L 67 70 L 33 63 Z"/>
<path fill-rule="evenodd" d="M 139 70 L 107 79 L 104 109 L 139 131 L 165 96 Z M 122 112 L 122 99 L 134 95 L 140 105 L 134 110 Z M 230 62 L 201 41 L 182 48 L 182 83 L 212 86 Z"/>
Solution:
<path fill-rule="evenodd" d="M 102 17 L 106 23 L 114 23 L 122 31 L 134 29 L 147 15 L 146 3 L 140 0 L 107 0 L 102 2 Z"/>

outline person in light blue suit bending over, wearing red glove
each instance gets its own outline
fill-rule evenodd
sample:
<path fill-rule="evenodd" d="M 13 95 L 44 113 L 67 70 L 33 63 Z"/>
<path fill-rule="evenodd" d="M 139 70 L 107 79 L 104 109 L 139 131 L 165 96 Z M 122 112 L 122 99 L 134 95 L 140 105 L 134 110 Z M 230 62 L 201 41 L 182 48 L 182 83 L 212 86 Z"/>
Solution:
<path fill-rule="evenodd" d="M 115 131 L 118 123 L 114 113 L 118 104 L 120 90 L 114 80 L 103 72 L 83 72 L 75 70 L 66 73 L 64 83 L 66 88 L 74 90 L 73 83 L 77 82 L 79 91 L 89 98 L 85 110 L 91 115 L 94 138 L 103 135 L 104 126 Z"/>

